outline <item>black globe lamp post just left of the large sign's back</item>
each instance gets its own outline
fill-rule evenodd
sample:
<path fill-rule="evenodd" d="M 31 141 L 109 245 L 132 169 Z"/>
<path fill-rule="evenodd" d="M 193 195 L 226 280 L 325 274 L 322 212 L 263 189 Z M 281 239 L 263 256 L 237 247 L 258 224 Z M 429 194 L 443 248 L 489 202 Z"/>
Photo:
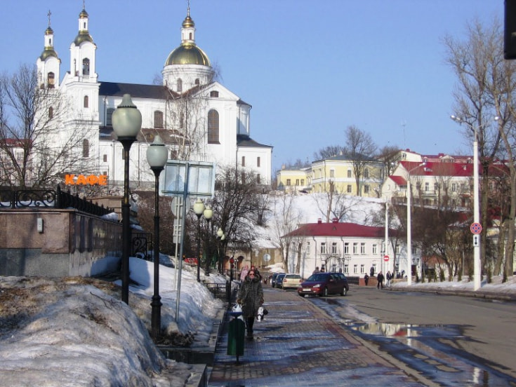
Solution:
<path fill-rule="evenodd" d="M 147 162 L 154 172 L 154 294 L 152 295 L 151 327 L 156 340 L 161 334 L 161 297 L 159 297 L 159 174 L 164 170 L 168 151 L 161 137 L 156 135 L 147 148 Z"/>

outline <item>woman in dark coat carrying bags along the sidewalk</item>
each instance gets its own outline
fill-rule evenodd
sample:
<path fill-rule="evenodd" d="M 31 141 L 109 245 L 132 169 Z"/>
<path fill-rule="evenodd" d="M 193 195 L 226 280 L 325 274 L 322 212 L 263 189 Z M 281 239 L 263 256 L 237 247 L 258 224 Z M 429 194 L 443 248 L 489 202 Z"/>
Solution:
<path fill-rule="evenodd" d="M 247 337 L 253 337 L 253 324 L 258 308 L 263 304 L 263 288 L 260 276 L 251 269 L 238 291 L 237 303 L 242 305 L 242 317 L 246 321 Z"/>

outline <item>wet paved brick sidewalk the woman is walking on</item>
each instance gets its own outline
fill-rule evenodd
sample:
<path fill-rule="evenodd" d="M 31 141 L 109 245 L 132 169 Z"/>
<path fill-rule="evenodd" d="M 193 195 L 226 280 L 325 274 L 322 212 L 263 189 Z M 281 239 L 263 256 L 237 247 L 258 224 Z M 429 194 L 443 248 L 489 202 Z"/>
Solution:
<path fill-rule="evenodd" d="M 208 386 L 424 386 L 391 365 L 297 292 L 264 287 L 269 314 L 244 355 L 227 355 L 227 322 Z"/>

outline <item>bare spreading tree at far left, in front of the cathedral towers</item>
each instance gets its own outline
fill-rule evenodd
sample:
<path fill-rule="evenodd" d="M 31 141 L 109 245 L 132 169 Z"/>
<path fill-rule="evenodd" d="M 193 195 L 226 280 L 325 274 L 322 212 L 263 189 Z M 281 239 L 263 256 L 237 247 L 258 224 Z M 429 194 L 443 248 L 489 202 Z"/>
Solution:
<path fill-rule="evenodd" d="M 11 186 L 51 186 L 65 173 L 93 173 L 88 139 L 95 126 L 72 115 L 71 104 L 55 88 L 40 88 L 35 66 L 22 65 L 0 76 L 0 179 Z M 96 171 L 95 171 L 96 172 Z"/>

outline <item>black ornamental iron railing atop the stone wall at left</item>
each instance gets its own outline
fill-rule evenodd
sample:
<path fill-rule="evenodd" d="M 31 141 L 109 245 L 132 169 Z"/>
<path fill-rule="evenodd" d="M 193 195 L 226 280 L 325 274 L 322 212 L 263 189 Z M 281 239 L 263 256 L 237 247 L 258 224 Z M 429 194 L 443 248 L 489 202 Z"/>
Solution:
<path fill-rule="evenodd" d="M 91 215 L 107 215 L 112 208 L 105 208 L 92 201 L 72 195 L 70 191 L 61 191 L 60 186 L 55 191 L 51 189 L 0 189 L 0 208 L 75 208 Z"/>

